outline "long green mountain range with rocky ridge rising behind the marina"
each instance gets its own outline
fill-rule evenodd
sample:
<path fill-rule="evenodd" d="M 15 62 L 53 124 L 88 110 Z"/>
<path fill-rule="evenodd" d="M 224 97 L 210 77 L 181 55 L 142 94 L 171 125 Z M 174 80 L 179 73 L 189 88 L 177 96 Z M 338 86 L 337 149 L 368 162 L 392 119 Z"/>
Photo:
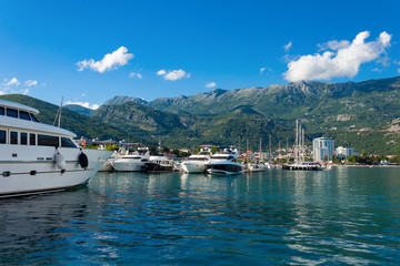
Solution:
<path fill-rule="evenodd" d="M 73 115 L 79 113 L 79 117 L 109 126 L 107 137 L 123 135 L 147 143 L 161 140 L 172 147 L 209 143 L 234 144 L 243 150 L 249 143 L 250 149 L 258 150 L 260 140 L 264 151 L 270 141 L 274 147 L 291 146 L 299 119 L 309 145 L 313 137 L 331 136 L 337 146 L 394 154 L 400 152 L 399 89 L 400 76 L 346 83 L 301 81 L 231 91 L 217 89 L 151 102 L 120 95 L 96 111 L 66 108 Z M 79 132 L 86 136 L 104 136 L 93 129 L 89 131 L 89 125 L 81 127 Z"/>

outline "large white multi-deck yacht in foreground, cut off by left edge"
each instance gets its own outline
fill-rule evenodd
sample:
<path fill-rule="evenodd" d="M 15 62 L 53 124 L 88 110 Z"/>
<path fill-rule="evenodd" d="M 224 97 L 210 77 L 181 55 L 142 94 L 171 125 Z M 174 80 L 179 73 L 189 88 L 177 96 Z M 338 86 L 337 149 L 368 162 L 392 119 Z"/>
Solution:
<path fill-rule="evenodd" d="M 0 100 L 0 197 L 84 184 L 109 151 L 82 150 L 68 130 L 42 124 L 38 110 Z"/>

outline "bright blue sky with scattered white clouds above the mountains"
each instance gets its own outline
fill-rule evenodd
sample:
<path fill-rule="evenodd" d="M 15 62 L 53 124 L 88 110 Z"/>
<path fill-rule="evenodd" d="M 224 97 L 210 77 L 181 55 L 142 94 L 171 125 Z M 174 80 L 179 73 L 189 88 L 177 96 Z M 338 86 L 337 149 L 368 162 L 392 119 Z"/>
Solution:
<path fill-rule="evenodd" d="M 397 0 L 0 1 L 0 93 L 96 106 L 391 78 L 399 10 Z"/>

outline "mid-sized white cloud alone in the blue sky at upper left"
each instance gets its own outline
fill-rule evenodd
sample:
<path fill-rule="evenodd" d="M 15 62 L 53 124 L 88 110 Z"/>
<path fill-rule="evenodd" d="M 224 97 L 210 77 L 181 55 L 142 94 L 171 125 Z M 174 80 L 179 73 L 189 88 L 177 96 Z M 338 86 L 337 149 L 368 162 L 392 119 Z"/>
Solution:
<path fill-rule="evenodd" d="M 127 48 L 120 47 L 112 53 L 106 54 L 101 61 L 89 59 L 78 62 L 77 65 L 79 66 L 78 71 L 91 69 L 99 73 L 103 73 L 104 71 L 114 70 L 118 69 L 118 66 L 126 65 L 132 58 L 133 53 L 128 53 Z"/>

